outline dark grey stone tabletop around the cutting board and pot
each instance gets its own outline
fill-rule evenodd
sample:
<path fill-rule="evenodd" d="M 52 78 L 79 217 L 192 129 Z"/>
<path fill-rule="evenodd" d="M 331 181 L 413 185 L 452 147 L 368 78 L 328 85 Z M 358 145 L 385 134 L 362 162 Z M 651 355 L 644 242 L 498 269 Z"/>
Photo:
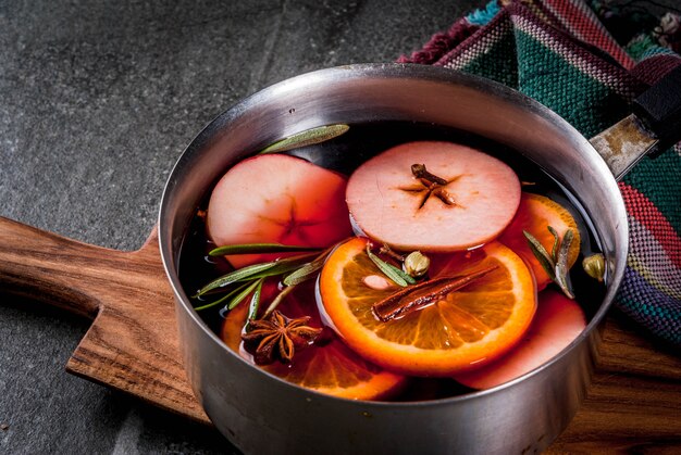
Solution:
<path fill-rule="evenodd" d="M 274 81 L 389 62 L 484 1 L 0 0 L 0 215 L 135 250 L 213 116 Z M 71 376 L 88 321 L 0 290 L 0 453 L 236 452 Z"/>

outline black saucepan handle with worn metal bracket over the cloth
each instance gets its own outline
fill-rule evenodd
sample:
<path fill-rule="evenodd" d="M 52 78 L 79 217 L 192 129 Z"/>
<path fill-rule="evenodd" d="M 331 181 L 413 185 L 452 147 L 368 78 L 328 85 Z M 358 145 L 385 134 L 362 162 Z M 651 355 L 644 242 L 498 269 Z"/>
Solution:
<path fill-rule="evenodd" d="M 633 102 L 633 114 L 591 139 L 592 146 L 621 179 L 646 154 L 681 140 L 681 65 Z"/>

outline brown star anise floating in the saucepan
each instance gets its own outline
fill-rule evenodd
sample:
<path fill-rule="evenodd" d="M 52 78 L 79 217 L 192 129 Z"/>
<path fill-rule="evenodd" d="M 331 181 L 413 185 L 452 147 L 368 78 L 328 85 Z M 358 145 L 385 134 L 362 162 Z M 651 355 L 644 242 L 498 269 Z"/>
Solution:
<path fill-rule="evenodd" d="M 249 323 L 250 330 L 242 336 L 245 346 L 256 364 L 269 365 L 274 361 L 288 364 L 296 350 L 310 345 L 322 332 L 321 328 L 310 327 L 309 316 L 290 319 L 275 309 L 268 319 Z"/>

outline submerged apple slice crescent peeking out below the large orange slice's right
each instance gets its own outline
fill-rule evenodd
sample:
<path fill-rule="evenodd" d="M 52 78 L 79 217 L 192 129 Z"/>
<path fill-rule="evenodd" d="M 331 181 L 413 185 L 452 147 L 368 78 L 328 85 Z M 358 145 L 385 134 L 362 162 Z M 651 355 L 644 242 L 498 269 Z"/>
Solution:
<path fill-rule="evenodd" d="M 504 357 L 454 379 L 472 389 L 491 389 L 543 365 L 570 344 L 586 327 L 582 308 L 564 294 L 546 290 L 532 325 Z"/>

